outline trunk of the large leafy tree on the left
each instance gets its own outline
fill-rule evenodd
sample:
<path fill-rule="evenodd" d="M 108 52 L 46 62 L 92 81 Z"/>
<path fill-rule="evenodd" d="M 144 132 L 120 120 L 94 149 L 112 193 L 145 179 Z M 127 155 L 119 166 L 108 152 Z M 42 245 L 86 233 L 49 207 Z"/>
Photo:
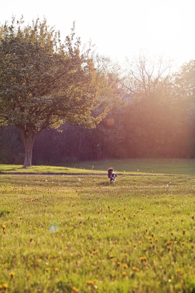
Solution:
<path fill-rule="evenodd" d="M 25 129 L 21 128 L 20 130 L 25 147 L 25 158 L 23 168 L 26 168 L 31 166 L 32 146 L 34 143 L 34 139 L 36 137 L 36 133 L 33 125 L 28 125 Z"/>

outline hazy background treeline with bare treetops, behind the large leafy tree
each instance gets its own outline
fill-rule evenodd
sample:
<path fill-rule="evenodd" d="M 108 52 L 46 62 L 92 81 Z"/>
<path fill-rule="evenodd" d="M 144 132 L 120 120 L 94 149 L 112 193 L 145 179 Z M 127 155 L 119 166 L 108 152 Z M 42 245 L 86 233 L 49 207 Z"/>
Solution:
<path fill-rule="evenodd" d="M 139 56 L 121 71 L 109 58 L 96 56 L 101 105 L 108 115 L 94 129 L 64 123 L 35 139 L 32 164 L 109 158 L 194 158 L 195 60 L 170 73 L 171 64 Z M 0 127 L 0 163 L 23 164 L 20 130 Z"/>

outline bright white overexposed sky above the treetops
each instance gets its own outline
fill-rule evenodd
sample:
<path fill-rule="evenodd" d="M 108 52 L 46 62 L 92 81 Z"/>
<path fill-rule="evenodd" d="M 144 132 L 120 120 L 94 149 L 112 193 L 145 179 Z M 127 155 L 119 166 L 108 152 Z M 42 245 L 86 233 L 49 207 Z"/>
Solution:
<path fill-rule="evenodd" d="M 194 11 L 193 0 L 11 0 L 1 6 L 0 22 L 23 14 L 27 24 L 45 16 L 65 40 L 75 21 L 82 44 L 91 39 L 99 54 L 121 64 L 147 50 L 181 66 L 195 59 Z"/>

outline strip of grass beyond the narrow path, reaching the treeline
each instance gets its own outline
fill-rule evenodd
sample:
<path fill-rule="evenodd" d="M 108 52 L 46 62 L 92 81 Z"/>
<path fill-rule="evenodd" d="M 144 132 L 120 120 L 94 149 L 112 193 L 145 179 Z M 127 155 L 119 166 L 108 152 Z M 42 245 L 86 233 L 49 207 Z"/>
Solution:
<path fill-rule="evenodd" d="M 195 175 L 194 159 L 126 159 L 103 160 L 79 163 L 67 163 L 64 166 L 32 166 L 0 165 L 0 174 L 4 173 L 36 173 L 36 174 L 106 174 L 113 167 L 121 174 L 184 174 Z"/>

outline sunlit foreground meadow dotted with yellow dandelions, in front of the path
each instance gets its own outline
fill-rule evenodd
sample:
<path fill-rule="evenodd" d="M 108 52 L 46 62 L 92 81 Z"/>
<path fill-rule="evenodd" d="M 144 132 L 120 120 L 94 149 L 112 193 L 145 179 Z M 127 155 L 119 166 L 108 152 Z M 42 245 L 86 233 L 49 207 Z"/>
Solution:
<path fill-rule="evenodd" d="M 0 292 L 195 292 L 195 177 L 0 175 Z"/>

